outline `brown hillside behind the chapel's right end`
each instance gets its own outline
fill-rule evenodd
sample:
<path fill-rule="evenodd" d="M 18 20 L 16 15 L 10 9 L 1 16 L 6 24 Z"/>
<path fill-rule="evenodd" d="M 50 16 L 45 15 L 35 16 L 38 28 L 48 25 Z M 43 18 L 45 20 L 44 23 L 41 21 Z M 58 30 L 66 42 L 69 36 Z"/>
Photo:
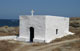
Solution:
<path fill-rule="evenodd" d="M 76 34 L 80 34 L 80 17 L 70 18 L 70 31 Z"/>

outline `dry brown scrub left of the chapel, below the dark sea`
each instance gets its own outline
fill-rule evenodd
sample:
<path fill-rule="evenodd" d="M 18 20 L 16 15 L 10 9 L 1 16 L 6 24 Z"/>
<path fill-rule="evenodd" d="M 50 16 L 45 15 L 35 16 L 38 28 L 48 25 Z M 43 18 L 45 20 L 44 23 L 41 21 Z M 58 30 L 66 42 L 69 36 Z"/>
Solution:
<path fill-rule="evenodd" d="M 0 36 L 18 35 L 19 27 L 0 27 Z"/>

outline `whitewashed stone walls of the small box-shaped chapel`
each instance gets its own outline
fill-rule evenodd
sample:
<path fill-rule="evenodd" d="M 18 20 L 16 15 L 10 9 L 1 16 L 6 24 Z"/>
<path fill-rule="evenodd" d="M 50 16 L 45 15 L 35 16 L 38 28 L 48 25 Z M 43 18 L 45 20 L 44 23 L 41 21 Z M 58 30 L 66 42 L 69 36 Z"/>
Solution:
<path fill-rule="evenodd" d="M 34 28 L 33 42 L 48 43 L 55 38 L 68 35 L 69 18 L 49 15 L 20 16 L 20 35 L 18 40 L 30 41 L 30 27 Z M 56 29 L 58 29 L 57 34 Z"/>

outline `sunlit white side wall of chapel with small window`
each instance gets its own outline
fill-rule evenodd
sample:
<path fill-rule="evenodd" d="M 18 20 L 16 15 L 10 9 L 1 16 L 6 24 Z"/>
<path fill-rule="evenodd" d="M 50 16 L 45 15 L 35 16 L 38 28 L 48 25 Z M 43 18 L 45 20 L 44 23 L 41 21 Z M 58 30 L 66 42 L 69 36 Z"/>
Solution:
<path fill-rule="evenodd" d="M 58 29 L 58 34 L 56 34 Z M 69 31 L 69 18 L 60 16 L 47 16 L 46 17 L 46 36 L 45 41 L 50 42 L 56 38 L 68 35 Z"/>

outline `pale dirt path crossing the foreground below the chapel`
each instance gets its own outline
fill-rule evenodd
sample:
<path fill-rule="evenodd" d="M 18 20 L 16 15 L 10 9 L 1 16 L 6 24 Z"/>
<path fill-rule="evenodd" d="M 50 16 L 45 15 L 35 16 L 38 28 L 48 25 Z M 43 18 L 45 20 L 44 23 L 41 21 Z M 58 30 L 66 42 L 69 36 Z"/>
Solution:
<path fill-rule="evenodd" d="M 66 40 L 66 41 L 57 42 L 57 43 L 50 43 L 50 44 L 47 44 L 44 46 L 35 46 L 35 47 L 22 45 L 22 47 L 20 47 L 17 51 L 51 51 L 52 49 L 60 47 L 66 43 L 76 42 L 79 40 L 80 40 L 80 38 L 79 39 Z"/>

